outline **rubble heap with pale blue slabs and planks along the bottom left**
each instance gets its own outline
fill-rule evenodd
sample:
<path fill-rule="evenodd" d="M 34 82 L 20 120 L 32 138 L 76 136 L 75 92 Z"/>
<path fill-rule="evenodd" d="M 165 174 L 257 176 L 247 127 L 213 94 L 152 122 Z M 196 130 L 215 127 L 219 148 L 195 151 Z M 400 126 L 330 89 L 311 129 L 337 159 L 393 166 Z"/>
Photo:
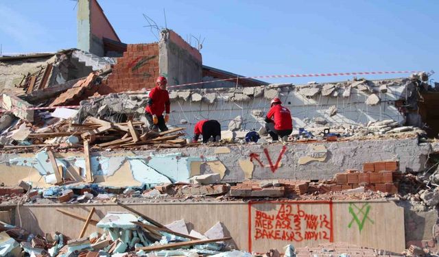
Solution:
<path fill-rule="evenodd" d="M 225 230 L 219 222 L 204 234 L 195 230 L 189 233 L 184 220 L 162 225 L 129 206 L 121 203 L 118 205 L 128 212 L 108 212 L 100 221 L 93 219 L 94 207 L 87 217 L 58 209 L 64 215 L 84 221 L 82 229 L 78 231 L 78 238 L 69 238 L 59 232 L 46 233 L 45 236 L 29 234 L 22 228 L 2 222 L 0 255 L 23 256 L 26 253 L 30 256 L 79 257 L 126 256 L 129 253 L 134 256 L 168 256 L 185 253 L 187 256 L 221 256 L 224 253 L 239 253 L 231 248 L 233 245 L 227 243 L 232 238 L 225 236 Z M 95 225 L 104 232 L 93 232 L 85 236 L 89 225 Z"/>

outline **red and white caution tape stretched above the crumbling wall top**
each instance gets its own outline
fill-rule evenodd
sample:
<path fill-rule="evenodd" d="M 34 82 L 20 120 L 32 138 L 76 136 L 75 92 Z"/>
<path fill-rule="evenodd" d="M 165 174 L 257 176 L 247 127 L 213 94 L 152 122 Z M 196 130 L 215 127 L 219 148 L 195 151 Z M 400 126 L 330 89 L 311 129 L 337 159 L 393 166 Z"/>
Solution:
<path fill-rule="evenodd" d="M 252 77 L 232 77 L 230 79 L 217 79 L 206 82 L 195 82 L 187 84 L 179 84 L 175 86 L 168 86 L 168 88 L 177 88 L 180 86 L 192 86 L 213 82 L 222 82 L 228 80 L 236 79 L 268 79 L 268 78 L 279 78 L 279 77 L 331 77 L 331 76 L 351 76 L 351 75 L 382 75 L 382 74 L 405 74 L 405 73 L 418 73 L 419 71 L 359 71 L 359 72 L 346 72 L 346 73 L 310 73 L 310 74 L 287 74 L 287 75 L 263 75 L 263 76 L 252 76 Z"/>

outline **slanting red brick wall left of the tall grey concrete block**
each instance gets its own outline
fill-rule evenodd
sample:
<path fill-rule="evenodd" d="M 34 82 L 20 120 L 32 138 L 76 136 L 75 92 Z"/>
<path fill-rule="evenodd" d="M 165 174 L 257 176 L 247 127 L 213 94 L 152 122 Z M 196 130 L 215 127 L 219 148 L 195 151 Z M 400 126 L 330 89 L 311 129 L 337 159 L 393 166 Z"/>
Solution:
<path fill-rule="evenodd" d="M 158 43 L 128 45 L 112 73 L 101 85 L 101 95 L 153 88 L 158 77 Z"/>

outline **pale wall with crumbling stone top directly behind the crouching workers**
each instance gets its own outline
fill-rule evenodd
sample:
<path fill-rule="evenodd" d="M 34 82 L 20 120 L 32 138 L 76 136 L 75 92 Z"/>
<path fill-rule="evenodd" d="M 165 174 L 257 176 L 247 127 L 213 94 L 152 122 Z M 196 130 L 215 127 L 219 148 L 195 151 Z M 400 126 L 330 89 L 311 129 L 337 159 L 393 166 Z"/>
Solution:
<path fill-rule="evenodd" d="M 316 127 L 328 125 L 366 125 L 369 121 L 392 119 L 405 123 L 405 116 L 396 107 L 396 101 L 405 99 L 408 79 L 384 81 L 341 82 L 311 86 L 291 84 L 254 88 L 171 90 L 170 124 L 193 131 L 195 123 L 202 119 L 216 119 L 222 130 L 237 116 L 243 119 L 242 129 L 258 130 L 263 123 L 252 116 L 253 110 L 265 115 L 270 110 L 270 100 L 281 98 L 293 117 L 293 127 Z M 354 85 L 354 86 L 353 86 Z M 379 88 L 386 86 L 386 92 Z M 370 95 L 379 98 L 377 103 L 368 103 Z M 336 110 L 334 112 L 334 110 Z M 320 124 L 316 124 L 321 120 Z M 182 123 L 180 121 L 187 121 Z"/>

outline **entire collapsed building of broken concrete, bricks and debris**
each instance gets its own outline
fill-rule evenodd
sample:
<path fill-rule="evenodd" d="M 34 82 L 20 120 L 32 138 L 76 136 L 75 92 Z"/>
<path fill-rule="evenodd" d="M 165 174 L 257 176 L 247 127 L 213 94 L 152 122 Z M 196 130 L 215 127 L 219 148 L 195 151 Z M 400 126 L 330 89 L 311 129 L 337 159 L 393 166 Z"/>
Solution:
<path fill-rule="evenodd" d="M 0 243 L 9 253 L 436 252 L 438 84 L 429 73 L 269 84 L 205 66 L 171 29 L 125 44 L 97 1 L 78 3 L 78 49 L 0 57 Z M 171 118 L 156 134 L 145 105 L 158 75 L 169 82 Z M 292 112 L 283 143 L 263 121 L 274 97 Z M 187 142 L 202 119 L 219 121 L 221 143 Z M 246 142 L 250 131 L 257 143 Z M 80 228 L 78 240 L 62 239 Z M 353 245 L 342 252 L 367 252 Z"/>

